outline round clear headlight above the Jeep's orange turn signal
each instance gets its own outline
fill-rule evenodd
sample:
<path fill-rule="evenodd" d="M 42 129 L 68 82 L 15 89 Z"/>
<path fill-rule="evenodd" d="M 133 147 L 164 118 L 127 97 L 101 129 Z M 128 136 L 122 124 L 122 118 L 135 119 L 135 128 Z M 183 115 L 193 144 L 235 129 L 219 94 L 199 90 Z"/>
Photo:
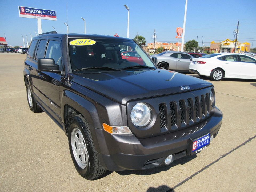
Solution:
<path fill-rule="evenodd" d="M 131 121 L 138 127 L 146 126 L 151 120 L 151 111 L 145 103 L 137 103 L 131 110 Z"/>

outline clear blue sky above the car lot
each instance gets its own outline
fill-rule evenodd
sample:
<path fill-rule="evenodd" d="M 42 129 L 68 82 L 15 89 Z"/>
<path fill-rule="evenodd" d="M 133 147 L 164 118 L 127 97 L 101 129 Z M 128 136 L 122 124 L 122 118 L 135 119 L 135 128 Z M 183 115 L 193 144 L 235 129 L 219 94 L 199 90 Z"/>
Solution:
<path fill-rule="evenodd" d="M 153 41 L 154 29 L 157 41 L 178 42 L 176 27 L 183 27 L 186 0 L 105 0 L 105 1 L 5 1 L 0 0 L 0 37 L 6 37 L 9 46 L 23 46 L 23 37 L 31 41 L 38 33 L 37 19 L 19 17 L 18 6 L 54 10 L 57 21 L 41 19 L 43 32 L 105 34 L 127 37 L 128 11 L 130 9 L 129 38 L 137 33 Z M 233 40 L 233 31 L 239 20 L 238 41 L 256 47 L 255 0 L 188 0 L 184 42 L 198 40 L 199 46 L 210 46 L 211 41 Z M 198 36 L 198 37 L 197 37 Z M 202 37 L 203 36 L 203 37 Z M 181 42 L 181 40 L 180 40 Z"/>

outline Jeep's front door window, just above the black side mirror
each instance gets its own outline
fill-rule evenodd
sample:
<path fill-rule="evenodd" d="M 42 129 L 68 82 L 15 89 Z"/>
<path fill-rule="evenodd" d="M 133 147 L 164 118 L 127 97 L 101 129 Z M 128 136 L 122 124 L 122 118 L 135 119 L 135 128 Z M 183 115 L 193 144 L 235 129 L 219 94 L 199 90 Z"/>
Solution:
<path fill-rule="evenodd" d="M 59 69 L 61 70 L 61 46 L 59 41 L 48 41 L 45 58 L 53 58 L 55 64 L 59 65 Z"/>

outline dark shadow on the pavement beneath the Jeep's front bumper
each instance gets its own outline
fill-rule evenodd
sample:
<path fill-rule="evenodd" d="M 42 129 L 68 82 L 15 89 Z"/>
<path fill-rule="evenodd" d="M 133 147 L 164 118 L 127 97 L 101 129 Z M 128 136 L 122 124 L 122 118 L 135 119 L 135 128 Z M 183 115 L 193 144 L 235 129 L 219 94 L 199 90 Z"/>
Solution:
<path fill-rule="evenodd" d="M 156 173 L 160 173 L 162 171 L 168 171 L 170 168 L 175 167 L 176 165 L 183 165 L 189 161 L 191 161 L 192 159 L 196 158 L 197 155 L 191 155 L 191 156 L 185 156 L 182 157 L 180 159 L 177 159 L 175 161 L 173 161 L 170 165 L 162 165 L 159 167 L 155 167 L 155 168 L 151 168 L 151 169 L 145 169 L 145 170 L 126 170 L 126 171 L 117 171 L 117 173 L 119 175 L 131 175 L 131 174 L 135 174 L 135 175 L 153 175 Z"/>

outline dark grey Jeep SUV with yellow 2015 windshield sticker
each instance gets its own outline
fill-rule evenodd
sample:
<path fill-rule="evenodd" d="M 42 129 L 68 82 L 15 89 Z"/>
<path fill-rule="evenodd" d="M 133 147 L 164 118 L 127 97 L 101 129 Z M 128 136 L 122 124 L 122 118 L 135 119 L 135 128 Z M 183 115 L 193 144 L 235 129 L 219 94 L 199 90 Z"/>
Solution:
<path fill-rule="evenodd" d="M 144 65 L 122 59 L 126 46 Z M 89 180 L 170 165 L 211 145 L 221 127 L 211 83 L 158 69 L 132 39 L 41 34 L 23 75 L 30 110 L 45 111 L 65 132 L 74 166 Z M 30 134 L 36 129 L 46 130 L 38 122 Z"/>

